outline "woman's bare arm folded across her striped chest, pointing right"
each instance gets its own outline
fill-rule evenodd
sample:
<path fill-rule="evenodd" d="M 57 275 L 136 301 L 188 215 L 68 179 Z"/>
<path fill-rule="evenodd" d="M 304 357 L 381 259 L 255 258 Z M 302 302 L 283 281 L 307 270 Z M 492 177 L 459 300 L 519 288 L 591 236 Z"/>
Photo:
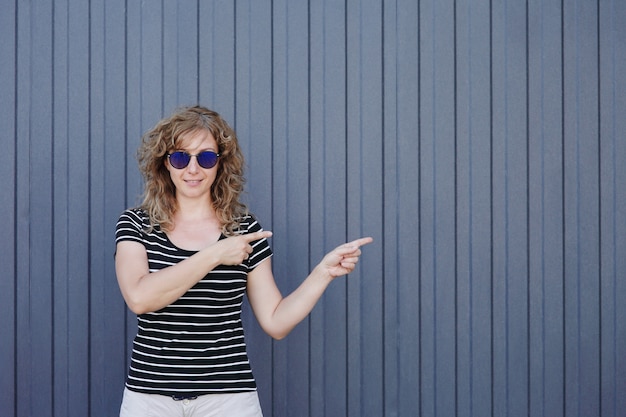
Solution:
<path fill-rule="evenodd" d="M 252 252 L 251 242 L 271 232 L 222 239 L 193 256 L 156 272 L 148 269 L 145 247 L 134 241 L 117 243 L 115 272 L 122 296 L 135 314 L 160 310 L 178 300 L 218 265 L 237 265 Z"/>

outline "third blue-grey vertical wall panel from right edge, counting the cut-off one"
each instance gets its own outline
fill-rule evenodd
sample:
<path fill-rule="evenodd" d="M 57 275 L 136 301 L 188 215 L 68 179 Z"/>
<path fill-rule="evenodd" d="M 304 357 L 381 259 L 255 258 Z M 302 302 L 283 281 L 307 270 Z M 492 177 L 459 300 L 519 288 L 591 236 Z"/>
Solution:
<path fill-rule="evenodd" d="M 531 415 L 563 415 L 561 4 L 529 4 L 529 320 Z"/>

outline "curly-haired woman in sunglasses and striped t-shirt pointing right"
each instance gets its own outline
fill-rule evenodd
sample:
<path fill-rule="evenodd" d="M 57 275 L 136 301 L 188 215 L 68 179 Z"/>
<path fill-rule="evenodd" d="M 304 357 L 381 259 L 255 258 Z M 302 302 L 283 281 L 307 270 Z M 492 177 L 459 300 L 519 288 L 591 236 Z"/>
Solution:
<path fill-rule="evenodd" d="M 263 330 L 282 339 L 372 239 L 329 252 L 283 298 L 272 233 L 239 201 L 243 155 L 217 113 L 176 111 L 143 136 L 138 161 L 144 200 L 116 228 L 117 279 L 138 319 L 120 416 L 261 416 L 241 323 L 244 292 Z"/>

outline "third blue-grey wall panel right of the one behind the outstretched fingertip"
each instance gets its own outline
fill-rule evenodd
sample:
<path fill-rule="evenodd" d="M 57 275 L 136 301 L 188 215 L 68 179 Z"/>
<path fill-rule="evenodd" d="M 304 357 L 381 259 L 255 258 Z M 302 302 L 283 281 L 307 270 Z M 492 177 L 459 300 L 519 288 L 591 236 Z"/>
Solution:
<path fill-rule="evenodd" d="M 491 414 L 490 2 L 457 4 L 457 413 Z"/>

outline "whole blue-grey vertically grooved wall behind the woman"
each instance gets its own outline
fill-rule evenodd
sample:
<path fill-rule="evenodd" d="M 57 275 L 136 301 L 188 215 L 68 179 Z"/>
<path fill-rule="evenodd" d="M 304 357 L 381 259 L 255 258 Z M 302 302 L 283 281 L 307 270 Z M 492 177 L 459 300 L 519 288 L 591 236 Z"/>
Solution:
<path fill-rule="evenodd" d="M 266 416 L 624 416 L 626 2 L 2 0 L 0 413 L 116 415 L 142 132 L 237 129 L 278 283 L 376 242 L 284 341 Z"/>

